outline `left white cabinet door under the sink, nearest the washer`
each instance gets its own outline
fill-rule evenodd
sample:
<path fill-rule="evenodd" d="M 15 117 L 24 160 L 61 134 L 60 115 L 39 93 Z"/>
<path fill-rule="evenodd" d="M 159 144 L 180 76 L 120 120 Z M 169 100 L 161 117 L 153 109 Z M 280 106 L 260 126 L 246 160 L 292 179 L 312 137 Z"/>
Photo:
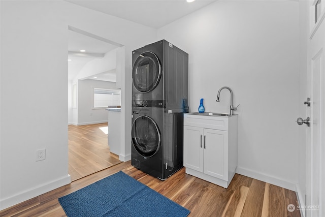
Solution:
<path fill-rule="evenodd" d="M 203 172 L 203 128 L 184 126 L 184 167 Z"/>

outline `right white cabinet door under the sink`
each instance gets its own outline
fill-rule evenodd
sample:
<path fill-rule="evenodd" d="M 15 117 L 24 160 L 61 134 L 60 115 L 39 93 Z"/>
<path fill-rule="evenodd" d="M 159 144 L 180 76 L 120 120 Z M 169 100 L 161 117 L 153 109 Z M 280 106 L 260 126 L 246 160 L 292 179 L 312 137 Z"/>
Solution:
<path fill-rule="evenodd" d="M 204 129 L 204 173 L 228 181 L 228 131 Z"/>

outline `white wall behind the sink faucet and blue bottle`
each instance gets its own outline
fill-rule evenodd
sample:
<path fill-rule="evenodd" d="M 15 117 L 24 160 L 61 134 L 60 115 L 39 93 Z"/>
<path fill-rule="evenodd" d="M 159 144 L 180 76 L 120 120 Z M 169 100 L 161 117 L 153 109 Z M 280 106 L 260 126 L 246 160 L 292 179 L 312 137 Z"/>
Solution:
<path fill-rule="evenodd" d="M 298 179 L 299 3 L 217 1 L 158 29 L 189 53 L 189 107 L 238 116 L 237 172 L 295 190 Z"/>

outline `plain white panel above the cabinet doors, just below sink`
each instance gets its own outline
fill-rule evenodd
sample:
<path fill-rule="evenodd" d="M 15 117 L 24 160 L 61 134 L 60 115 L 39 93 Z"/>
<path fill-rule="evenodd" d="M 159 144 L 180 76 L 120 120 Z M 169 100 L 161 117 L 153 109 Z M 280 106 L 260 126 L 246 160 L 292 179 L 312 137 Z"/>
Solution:
<path fill-rule="evenodd" d="M 228 117 L 184 114 L 184 125 L 228 131 Z"/>

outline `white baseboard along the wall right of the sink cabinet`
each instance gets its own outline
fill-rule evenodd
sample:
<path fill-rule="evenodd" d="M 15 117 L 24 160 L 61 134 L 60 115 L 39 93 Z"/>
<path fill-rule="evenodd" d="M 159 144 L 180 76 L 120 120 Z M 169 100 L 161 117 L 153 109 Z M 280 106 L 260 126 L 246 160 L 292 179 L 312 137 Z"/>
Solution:
<path fill-rule="evenodd" d="M 286 181 L 286 180 L 283 180 L 283 179 L 280 179 L 280 178 L 277 178 L 274 176 L 270 176 L 268 174 L 256 172 L 256 171 L 241 168 L 241 167 L 237 167 L 236 173 L 244 175 L 244 176 L 248 176 L 248 177 L 260 180 L 260 181 L 268 182 L 270 184 L 277 185 L 281 188 L 296 192 L 296 183 Z"/>

